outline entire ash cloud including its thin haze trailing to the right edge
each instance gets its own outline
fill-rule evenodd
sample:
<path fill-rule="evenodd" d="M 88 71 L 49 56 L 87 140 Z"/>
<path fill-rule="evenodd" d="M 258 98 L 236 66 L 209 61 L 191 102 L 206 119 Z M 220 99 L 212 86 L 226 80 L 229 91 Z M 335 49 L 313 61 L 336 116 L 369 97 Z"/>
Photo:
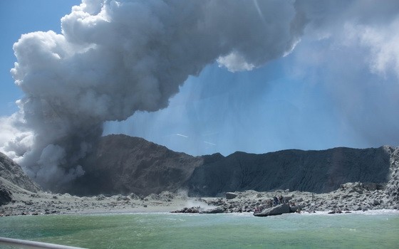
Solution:
<path fill-rule="evenodd" d="M 209 63 L 252 70 L 289 55 L 304 40 L 293 73 L 311 78 L 318 66 L 327 72 L 318 80 L 345 79 L 343 86 L 358 81 L 348 75 L 368 70 L 396 83 L 398 36 L 392 30 L 399 26 L 399 2 L 380 3 L 83 0 L 61 18 L 61 34 L 28 33 L 15 43 L 11 73 L 25 97 L 17 102 L 19 112 L 0 120 L 13 134 L 0 135 L 9 141 L 0 149 L 42 186 L 57 189 L 84 174 L 81 160 L 104 122 L 167 107 L 185 80 Z M 349 59 L 356 61 L 343 63 Z M 361 94 L 343 98 L 347 92 L 335 86 L 341 110 L 363 103 L 356 102 Z M 397 96 L 391 102 L 398 105 Z M 353 117 L 355 111 L 345 112 Z"/>

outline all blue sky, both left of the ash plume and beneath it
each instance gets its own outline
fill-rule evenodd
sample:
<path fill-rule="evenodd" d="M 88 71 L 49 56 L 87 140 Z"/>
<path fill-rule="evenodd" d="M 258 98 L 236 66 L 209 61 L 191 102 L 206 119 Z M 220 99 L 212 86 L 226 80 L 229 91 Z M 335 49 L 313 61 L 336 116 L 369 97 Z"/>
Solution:
<path fill-rule="evenodd" d="M 61 33 L 61 17 L 79 3 L 0 2 L 1 116 L 16 112 L 14 102 L 24 96 L 9 73 L 16 61 L 13 43 L 22 33 Z M 352 7 L 356 21 L 332 16 L 310 23 L 291 53 L 259 68 L 232 73 L 210 63 L 185 80 L 168 107 L 105 122 L 103 134 L 143 137 L 192 155 L 398 146 L 399 70 L 397 59 L 386 54 L 399 51 L 388 43 L 399 16 L 381 19 L 390 9 L 381 7 L 375 22 L 362 23 L 368 9 Z"/>

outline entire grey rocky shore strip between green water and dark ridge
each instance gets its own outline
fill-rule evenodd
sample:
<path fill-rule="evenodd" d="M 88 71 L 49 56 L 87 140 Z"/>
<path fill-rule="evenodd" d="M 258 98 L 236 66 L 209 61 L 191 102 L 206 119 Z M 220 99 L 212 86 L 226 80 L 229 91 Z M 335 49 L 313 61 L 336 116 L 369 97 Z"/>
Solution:
<path fill-rule="evenodd" d="M 26 191 L 13 196 L 13 201 L 0 206 L 0 216 L 173 212 L 173 213 L 243 213 L 264 210 L 273 206 L 274 196 L 283 196 L 291 207 L 301 212 L 399 210 L 399 203 L 379 184 L 348 183 L 327 194 L 276 190 L 269 192 L 243 191 L 227 193 L 226 197 L 190 198 L 181 192 L 163 191 L 149 196 L 91 196 L 32 193 Z"/>

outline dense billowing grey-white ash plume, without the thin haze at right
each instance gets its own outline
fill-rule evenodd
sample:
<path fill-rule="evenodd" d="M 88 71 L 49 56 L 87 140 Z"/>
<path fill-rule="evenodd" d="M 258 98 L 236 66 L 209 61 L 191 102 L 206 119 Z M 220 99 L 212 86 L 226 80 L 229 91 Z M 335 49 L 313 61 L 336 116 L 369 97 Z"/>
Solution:
<path fill-rule="evenodd" d="M 25 92 L 3 148 L 42 186 L 84 174 L 103 122 L 165 108 L 189 75 L 218 61 L 251 70 L 290 53 L 303 28 L 291 1 L 83 0 L 62 33 L 14 44 Z"/>

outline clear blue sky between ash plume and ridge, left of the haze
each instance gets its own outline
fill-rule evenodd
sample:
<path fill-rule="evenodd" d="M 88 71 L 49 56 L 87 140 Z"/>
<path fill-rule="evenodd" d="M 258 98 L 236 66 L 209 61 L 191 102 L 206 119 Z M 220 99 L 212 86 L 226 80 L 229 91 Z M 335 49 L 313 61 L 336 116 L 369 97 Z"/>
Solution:
<path fill-rule="evenodd" d="M 351 134 L 340 134 L 345 127 L 335 117 L 328 92 L 286 75 L 287 60 L 240 73 L 209 65 L 187 80 L 167 109 L 111 122 L 106 132 L 145 137 L 190 154 L 350 144 Z"/>

